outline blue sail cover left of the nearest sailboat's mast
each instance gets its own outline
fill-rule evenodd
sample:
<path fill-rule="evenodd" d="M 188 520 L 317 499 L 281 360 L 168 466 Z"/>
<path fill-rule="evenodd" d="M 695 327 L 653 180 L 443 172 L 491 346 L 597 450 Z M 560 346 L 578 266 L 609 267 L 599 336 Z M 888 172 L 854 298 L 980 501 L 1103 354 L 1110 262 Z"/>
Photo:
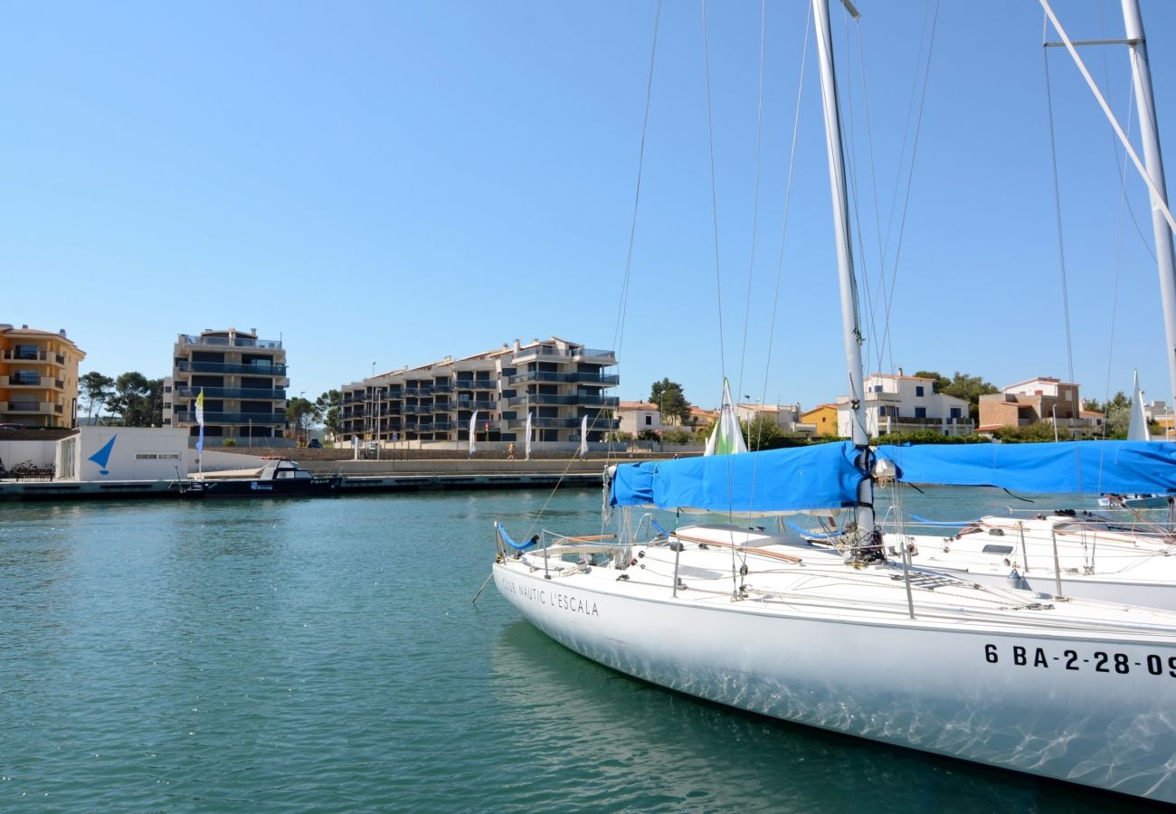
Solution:
<path fill-rule="evenodd" d="M 708 512 L 800 512 L 857 500 L 853 443 L 648 461 L 616 467 L 613 506 Z"/>

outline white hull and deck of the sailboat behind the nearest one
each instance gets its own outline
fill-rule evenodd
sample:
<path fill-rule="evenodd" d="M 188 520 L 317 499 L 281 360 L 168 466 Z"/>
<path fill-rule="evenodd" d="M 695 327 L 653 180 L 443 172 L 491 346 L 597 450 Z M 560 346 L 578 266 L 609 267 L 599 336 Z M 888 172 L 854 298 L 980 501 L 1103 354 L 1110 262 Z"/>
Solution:
<path fill-rule="evenodd" d="M 1063 596 L 1176 612 L 1176 546 L 1171 538 L 1049 516 L 1022 521 L 983 518 L 974 533 L 887 534 L 884 540 L 895 552 L 902 542 L 914 543 L 911 562 L 922 568 L 990 586 L 1011 585 L 1009 574 L 1015 569 L 1022 587 L 1049 594 L 1058 593 L 1056 541 Z"/>

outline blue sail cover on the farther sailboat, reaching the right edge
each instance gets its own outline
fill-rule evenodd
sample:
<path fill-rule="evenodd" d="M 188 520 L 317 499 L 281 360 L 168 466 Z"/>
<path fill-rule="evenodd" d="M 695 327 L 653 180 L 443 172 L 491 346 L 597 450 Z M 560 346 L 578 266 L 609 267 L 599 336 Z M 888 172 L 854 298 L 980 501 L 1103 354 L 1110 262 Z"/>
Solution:
<path fill-rule="evenodd" d="M 881 446 L 907 483 L 1069 494 L 1176 493 L 1176 443 L 1064 441 Z"/>

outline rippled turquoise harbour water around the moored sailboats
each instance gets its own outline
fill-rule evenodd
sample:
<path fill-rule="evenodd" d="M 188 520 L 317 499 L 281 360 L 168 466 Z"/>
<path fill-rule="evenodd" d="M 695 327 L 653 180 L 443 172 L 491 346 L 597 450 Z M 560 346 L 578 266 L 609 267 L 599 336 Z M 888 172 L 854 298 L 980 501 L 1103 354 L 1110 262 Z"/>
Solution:
<path fill-rule="evenodd" d="M 0 505 L 0 808 L 1131 808 L 701 703 L 493 586 L 473 605 L 492 521 L 523 536 L 544 503 L 547 528 L 599 526 L 590 489 Z"/>

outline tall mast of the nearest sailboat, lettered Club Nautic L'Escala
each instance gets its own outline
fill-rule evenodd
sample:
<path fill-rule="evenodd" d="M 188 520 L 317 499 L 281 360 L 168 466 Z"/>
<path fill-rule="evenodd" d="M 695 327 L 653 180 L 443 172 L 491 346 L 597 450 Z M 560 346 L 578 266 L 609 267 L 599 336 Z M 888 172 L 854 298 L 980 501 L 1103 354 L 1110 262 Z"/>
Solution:
<path fill-rule="evenodd" d="M 1124 0 L 1125 2 L 1125 0 Z M 851 6 L 850 13 L 857 14 Z M 833 226 L 837 240 L 837 279 L 841 285 L 841 327 L 846 346 L 846 379 L 853 408 L 850 438 L 857 448 L 858 468 L 870 474 L 869 438 L 866 434 L 866 389 L 862 376 L 862 331 L 857 320 L 857 287 L 854 281 L 854 256 L 849 242 L 849 201 L 846 192 L 846 161 L 841 142 L 841 111 L 837 106 L 837 80 L 833 68 L 833 38 L 829 29 L 828 0 L 813 0 L 813 19 L 821 65 L 821 95 L 824 102 L 824 136 L 829 156 L 829 187 L 833 192 Z M 874 481 L 869 476 L 857 487 L 855 509 L 858 539 L 874 531 Z"/>

